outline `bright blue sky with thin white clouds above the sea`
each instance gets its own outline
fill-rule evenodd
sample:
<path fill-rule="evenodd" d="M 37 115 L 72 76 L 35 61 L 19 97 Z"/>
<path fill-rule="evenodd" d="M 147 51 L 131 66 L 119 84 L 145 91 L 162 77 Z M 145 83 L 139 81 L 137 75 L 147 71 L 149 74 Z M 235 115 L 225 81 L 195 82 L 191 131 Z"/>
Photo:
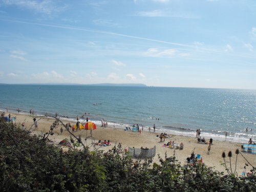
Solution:
<path fill-rule="evenodd" d="M 0 83 L 256 89 L 256 1 L 0 0 Z"/>

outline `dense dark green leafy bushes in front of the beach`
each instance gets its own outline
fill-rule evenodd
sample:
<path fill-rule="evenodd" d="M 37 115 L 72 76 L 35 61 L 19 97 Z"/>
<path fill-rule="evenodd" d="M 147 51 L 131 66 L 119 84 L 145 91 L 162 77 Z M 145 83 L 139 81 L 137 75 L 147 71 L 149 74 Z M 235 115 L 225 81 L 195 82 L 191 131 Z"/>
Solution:
<path fill-rule="evenodd" d="M 62 152 L 45 138 L 0 122 L 0 191 L 256 191 L 254 180 L 210 167 L 182 168 L 174 157 L 135 161 L 121 145 L 107 153 Z"/>

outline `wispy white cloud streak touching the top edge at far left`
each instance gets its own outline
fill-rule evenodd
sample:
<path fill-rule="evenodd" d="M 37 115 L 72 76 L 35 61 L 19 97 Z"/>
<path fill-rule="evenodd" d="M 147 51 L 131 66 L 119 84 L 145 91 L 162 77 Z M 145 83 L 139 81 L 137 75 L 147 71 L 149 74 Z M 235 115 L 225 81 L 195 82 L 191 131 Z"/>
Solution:
<path fill-rule="evenodd" d="M 31 10 L 35 13 L 42 13 L 51 15 L 55 12 L 61 12 L 67 9 L 67 5 L 59 7 L 55 4 L 56 1 L 52 0 L 3 0 L 3 3 L 8 6 L 17 6 Z"/>

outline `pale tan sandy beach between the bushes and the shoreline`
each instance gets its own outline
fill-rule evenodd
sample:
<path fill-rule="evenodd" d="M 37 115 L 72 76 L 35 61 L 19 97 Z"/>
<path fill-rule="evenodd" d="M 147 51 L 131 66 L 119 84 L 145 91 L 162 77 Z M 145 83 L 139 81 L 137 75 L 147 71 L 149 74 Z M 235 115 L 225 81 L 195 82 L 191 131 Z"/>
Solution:
<path fill-rule="evenodd" d="M 5 116 L 9 115 L 6 114 Z M 25 128 L 26 130 L 30 129 L 30 127 L 33 125 L 33 118 L 34 116 L 25 115 L 25 114 L 14 114 L 11 113 L 11 117 L 16 116 L 16 121 L 14 123 L 21 124 L 25 122 Z M 36 121 L 38 124 L 38 130 L 37 134 L 40 134 L 41 132 L 48 132 L 50 129 L 50 125 L 52 122 L 54 122 L 54 118 L 46 118 L 46 117 L 36 117 Z M 67 121 L 63 121 L 63 123 L 68 123 Z M 75 122 L 70 122 L 72 125 L 75 124 Z M 83 124 L 84 125 L 84 124 Z M 63 133 L 60 133 L 61 125 L 58 126 L 56 130 L 54 130 L 54 135 L 51 136 L 50 139 L 53 140 L 54 143 L 58 143 L 62 139 L 70 139 L 70 134 L 65 130 L 65 127 L 62 126 Z M 32 126 L 32 130 L 34 129 L 34 125 Z M 33 132 L 35 133 L 35 132 Z M 175 152 L 175 156 L 178 159 L 179 162 L 181 162 L 181 165 L 185 163 L 185 159 L 195 150 L 195 154 L 201 154 L 203 158 L 203 162 L 207 166 L 215 167 L 215 170 L 218 170 L 219 172 L 224 172 L 226 174 L 225 167 L 221 164 L 223 161 L 222 158 L 222 152 L 227 153 L 229 151 L 232 152 L 232 158 L 231 158 L 231 164 L 232 169 L 234 170 L 235 162 L 236 162 L 236 154 L 235 151 L 238 148 L 239 151 L 241 151 L 241 145 L 242 143 L 234 143 L 230 141 L 213 141 L 211 145 L 210 153 L 207 154 L 207 144 L 202 144 L 197 142 L 196 137 L 184 137 L 184 136 L 178 136 L 178 135 L 170 135 L 170 138 L 166 138 L 165 142 L 160 142 L 160 138 L 157 137 L 157 135 L 160 135 L 159 133 L 154 133 L 152 130 L 149 132 L 148 130 L 144 130 L 143 132 L 131 132 L 131 131 L 124 131 L 123 129 L 119 129 L 117 127 L 101 127 L 101 125 L 97 124 L 97 129 L 93 130 L 92 136 L 90 137 L 90 131 L 81 130 L 75 132 L 76 136 L 81 136 L 82 141 L 84 144 L 91 147 L 93 150 L 92 143 L 98 142 L 98 140 L 110 140 L 112 143 L 112 146 L 96 146 L 99 148 L 99 150 L 107 151 L 113 145 L 121 143 L 123 148 L 135 147 L 140 148 L 147 147 L 151 148 L 154 145 L 156 145 L 156 156 L 153 158 L 153 162 L 159 163 L 158 161 L 158 154 L 162 158 L 164 158 L 165 153 L 167 154 L 167 157 L 173 156 Z M 85 141 L 85 138 L 89 137 L 87 141 Z M 174 150 L 174 148 L 168 148 L 163 147 L 162 145 L 164 143 L 167 143 L 168 141 L 175 141 L 175 143 L 184 143 L 183 150 Z M 208 139 L 206 140 L 208 142 Z M 249 153 L 243 153 L 243 156 L 253 165 L 256 166 L 256 155 L 249 154 Z M 226 163 L 229 165 L 229 158 L 226 158 Z M 244 166 L 245 166 L 246 160 L 239 154 L 238 160 L 237 160 L 237 173 L 238 175 L 241 175 L 242 172 L 244 172 Z M 229 168 L 229 166 L 228 166 Z M 246 171 L 249 171 L 251 169 L 250 166 L 246 167 Z"/>

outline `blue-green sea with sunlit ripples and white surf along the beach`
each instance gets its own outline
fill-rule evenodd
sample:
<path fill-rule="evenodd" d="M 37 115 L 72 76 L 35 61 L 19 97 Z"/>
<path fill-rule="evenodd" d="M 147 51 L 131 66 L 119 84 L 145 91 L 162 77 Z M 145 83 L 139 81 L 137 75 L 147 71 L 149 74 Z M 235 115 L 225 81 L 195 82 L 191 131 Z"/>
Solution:
<path fill-rule="evenodd" d="M 0 110 L 6 108 L 74 122 L 89 117 L 98 125 L 103 118 L 122 129 L 156 124 L 157 132 L 175 135 L 195 137 L 200 129 L 205 138 L 256 140 L 256 90 L 0 84 Z"/>

